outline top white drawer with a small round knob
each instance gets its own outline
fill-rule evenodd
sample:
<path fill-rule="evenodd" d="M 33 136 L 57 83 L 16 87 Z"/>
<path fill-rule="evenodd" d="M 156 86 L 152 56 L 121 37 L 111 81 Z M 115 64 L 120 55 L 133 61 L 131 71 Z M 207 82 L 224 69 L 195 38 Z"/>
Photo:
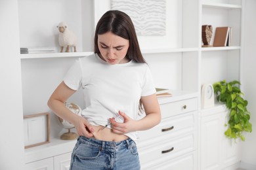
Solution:
<path fill-rule="evenodd" d="M 168 118 L 184 112 L 197 110 L 198 100 L 196 98 L 184 99 L 160 105 L 161 118 Z"/>

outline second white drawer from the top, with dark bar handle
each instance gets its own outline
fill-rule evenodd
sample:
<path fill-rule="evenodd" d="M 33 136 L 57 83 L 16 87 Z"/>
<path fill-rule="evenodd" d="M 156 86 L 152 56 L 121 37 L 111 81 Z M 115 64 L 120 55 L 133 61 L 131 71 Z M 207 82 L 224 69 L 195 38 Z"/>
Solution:
<path fill-rule="evenodd" d="M 186 132 L 194 130 L 195 124 L 195 112 L 188 114 L 182 114 L 180 116 L 174 116 L 171 118 L 165 118 L 158 126 L 148 129 L 146 131 L 139 131 L 140 143 L 147 139 L 154 139 L 161 135 L 172 135 L 178 131 Z"/>

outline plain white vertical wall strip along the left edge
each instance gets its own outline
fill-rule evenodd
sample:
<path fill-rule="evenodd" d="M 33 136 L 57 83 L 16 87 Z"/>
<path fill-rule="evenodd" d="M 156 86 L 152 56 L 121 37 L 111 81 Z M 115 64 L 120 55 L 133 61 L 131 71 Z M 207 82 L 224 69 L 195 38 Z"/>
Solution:
<path fill-rule="evenodd" d="M 0 169 L 23 169 L 24 137 L 18 6 L 0 1 Z M 11 50 L 10 50 L 11 49 Z"/>

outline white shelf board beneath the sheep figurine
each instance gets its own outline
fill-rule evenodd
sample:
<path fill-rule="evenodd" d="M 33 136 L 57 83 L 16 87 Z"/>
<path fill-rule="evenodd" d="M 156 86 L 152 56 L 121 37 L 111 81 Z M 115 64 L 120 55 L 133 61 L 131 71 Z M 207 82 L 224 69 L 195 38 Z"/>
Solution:
<path fill-rule="evenodd" d="M 54 53 L 37 53 L 37 54 L 20 54 L 21 59 L 36 59 L 36 58 L 72 58 L 89 56 L 93 52 L 54 52 Z"/>

